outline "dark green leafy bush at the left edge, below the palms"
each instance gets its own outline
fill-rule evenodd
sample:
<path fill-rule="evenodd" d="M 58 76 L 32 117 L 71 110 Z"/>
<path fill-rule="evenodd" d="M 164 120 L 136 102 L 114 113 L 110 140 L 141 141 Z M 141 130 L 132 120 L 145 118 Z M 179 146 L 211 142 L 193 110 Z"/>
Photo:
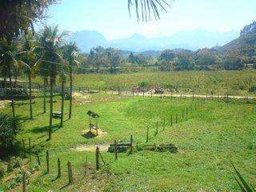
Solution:
<path fill-rule="evenodd" d="M 12 146 L 21 128 L 22 124 L 19 118 L 13 118 L 11 114 L 4 112 L 0 113 L 0 146 L 2 148 Z"/>

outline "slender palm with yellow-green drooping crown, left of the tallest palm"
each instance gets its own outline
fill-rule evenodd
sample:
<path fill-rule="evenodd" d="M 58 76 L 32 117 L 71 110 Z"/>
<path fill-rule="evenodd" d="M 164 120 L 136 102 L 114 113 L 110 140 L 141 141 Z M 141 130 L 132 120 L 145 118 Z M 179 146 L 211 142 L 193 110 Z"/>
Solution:
<path fill-rule="evenodd" d="M 39 60 L 36 60 L 36 42 L 32 39 L 32 33 L 27 34 L 22 39 L 23 55 L 19 60 L 21 64 L 26 67 L 29 80 L 29 99 L 30 99 L 30 119 L 33 118 L 32 113 L 32 91 L 31 91 L 31 77 L 32 72 L 35 70 Z"/>

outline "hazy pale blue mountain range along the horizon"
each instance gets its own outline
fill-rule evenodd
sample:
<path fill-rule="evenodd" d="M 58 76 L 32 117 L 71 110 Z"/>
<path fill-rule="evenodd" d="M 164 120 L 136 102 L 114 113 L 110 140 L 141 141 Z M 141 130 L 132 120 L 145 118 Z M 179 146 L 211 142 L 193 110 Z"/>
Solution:
<path fill-rule="evenodd" d="M 121 50 L 133 52 L 144 52 L 148 50 L 164 50 L 182 48 L 197 50 L 198 48 L 212 48 L 216 45 L 222 46 L 238 38 L 239 31 L 218 32 L 214 30 L 195 29 L 178 32 L 176 34 L 146 38 L 141 34 L 133 34 L 129 38 L 121 38 L 108 41 L 96 31 L 83 30 L 74 32 L 71 39 L 75 40 L 82 52 L 89 52 L 95 46 L 114 47 Z"/>

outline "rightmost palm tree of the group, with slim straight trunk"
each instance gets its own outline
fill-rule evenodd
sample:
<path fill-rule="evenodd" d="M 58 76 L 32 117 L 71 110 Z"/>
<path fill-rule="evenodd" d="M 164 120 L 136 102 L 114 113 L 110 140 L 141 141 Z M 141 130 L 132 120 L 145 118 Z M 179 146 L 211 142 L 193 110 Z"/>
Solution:
<path fill-rule="evenodd" d="M 63 49 L 63 57 L 68 62 L 69 66 L 69 76 L 70 76 L 70 104 L 69 104 L 69 115 L 68 118 L 71 119 L 72 116 L 72 67 L 79 64 L 78 58 L 78 47 L 76 42 L 69 42 L 65 44 Z"/>

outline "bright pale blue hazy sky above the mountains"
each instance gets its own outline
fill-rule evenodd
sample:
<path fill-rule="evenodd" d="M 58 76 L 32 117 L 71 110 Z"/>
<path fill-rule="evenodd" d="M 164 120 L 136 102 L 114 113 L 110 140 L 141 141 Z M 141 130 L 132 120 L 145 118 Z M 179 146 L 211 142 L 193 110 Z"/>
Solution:
<path fill-rule="evenodd" d="M 134 33 L 147 37 L 206 28 L 227 32 L 240 30 L 256 19 L 256 0 L 175 0 L 161 20 L 142 23 L 129 17 L 127 0 L 61 0 L 50 8 L 48 24 L 62 30 L 95 30 L 108 40 Z"/>

